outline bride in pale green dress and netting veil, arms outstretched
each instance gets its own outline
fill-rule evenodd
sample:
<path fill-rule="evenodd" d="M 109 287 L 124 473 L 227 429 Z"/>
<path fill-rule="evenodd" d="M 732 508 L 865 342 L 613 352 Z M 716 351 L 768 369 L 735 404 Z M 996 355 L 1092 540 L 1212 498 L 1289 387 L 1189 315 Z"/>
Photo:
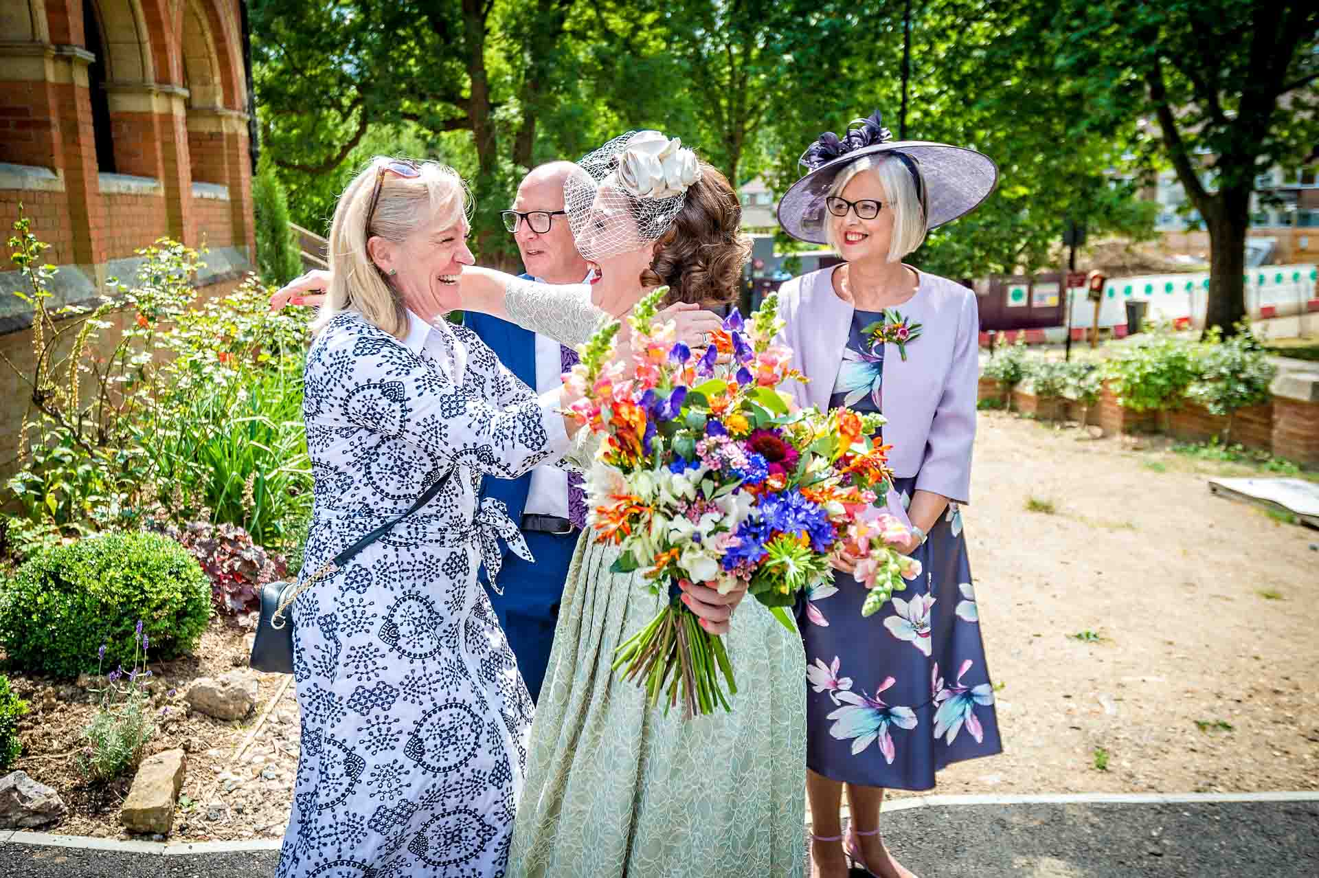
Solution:
<path fill-rule="evenodd" d="M 662 283 L 679 332 L 704 326 L 696 303 L 732 301 L 748 245 L 737 195 L 718 170 L 658 132 L 617 137 L 580 167 L 566 200 L 578 249 L 594 268 L 591 286 L 546 286 L 472 266 L 459 278 L 467 307 L 580 344 L 601 316 L 624 318 Z M 305 294 L 327 279 L 303 276 L 272 307 L 294 297 L 315 303 Z M 580 431 L 571 456 L 588 465 L 594 452 Z M 731 713 L 665 716 L 611 670 L 615 649 L 666 600 L 650 595 L 638 572 L 611 572 L 616 556 L 582 534 L 532 726 L 508 874 L 802 874 L 801 638 L 756 602 L 728 626 L 732 606 L 692 585 L 683 600 L 700 609 L 702 624 L 728 630 L 739 691 Z"/>

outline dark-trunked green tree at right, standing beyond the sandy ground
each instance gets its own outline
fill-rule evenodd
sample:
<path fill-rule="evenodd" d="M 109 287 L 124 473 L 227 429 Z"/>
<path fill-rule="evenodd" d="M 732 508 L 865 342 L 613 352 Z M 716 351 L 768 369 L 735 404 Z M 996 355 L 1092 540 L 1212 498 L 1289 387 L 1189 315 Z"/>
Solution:
<path fill-rule="evenodd" d="M 1171 165 L 1211 243 L 1206 326 L 1245 316 L 1245 237 L 1256 178 L 1319 144 L 1314 0 L 1024 0 L 1022 51 L 1055 58 L 1078 128 L 1138 129 L 1130 145 Z"/>

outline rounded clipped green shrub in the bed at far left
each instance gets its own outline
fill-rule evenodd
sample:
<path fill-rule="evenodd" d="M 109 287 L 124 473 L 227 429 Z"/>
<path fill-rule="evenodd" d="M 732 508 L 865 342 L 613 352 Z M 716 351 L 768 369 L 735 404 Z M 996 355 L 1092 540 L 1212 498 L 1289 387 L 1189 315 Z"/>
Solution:
<path fill-rule="evenodd" d="M 211 583 L 160 534 L 106 534 L 28 560 L 0 591 L 0 643 L 34 674 L 77 676 L 133 659 L 138 620 L 152 655 L 191 650 L 211 616 Z"/>

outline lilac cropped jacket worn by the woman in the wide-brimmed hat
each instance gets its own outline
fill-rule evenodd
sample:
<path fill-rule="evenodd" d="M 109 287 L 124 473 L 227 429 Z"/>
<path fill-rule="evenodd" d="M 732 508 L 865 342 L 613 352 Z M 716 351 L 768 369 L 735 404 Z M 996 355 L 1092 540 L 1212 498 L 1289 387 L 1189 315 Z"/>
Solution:
<path fill-rule="evenodd" d="M 843 363 L 853 308 L 838 298 L 832 268 L 793 278 L 778 290 L 781 341 L 793 349 L 793 368 L 810 382 L 785 386 L 802 407 L 828 410 Z M 947 278 L 919 272 L 921 285 L 902 316 L 921 323 L 921 337 L 884 351 L 884 442 L 900 477 L 918 476 L 917 490 L 956 502 L 971 496 L 971 442 L 976 435 L 980 312 L 975 293 Z"/>

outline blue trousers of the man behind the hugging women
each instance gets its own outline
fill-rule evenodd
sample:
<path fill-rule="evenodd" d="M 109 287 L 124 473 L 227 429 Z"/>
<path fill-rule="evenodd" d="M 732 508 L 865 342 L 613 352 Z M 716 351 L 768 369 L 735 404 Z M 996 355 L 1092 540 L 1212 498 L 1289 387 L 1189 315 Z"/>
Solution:
<path fill-rule="evenodd" d="M 559 618 L 559 599 L 567 581 L 568 563 L 576 548 L 579 533 L 566 535 L 522 531 L 534 563 L 508 552 L 499 573 L 503 595 L 489 592 L 499 624 L 508 637 L 517 670 L 526 682 L 532 700 L 541 695 L 545 670 L 550 663 L 550 645 Z"/>

